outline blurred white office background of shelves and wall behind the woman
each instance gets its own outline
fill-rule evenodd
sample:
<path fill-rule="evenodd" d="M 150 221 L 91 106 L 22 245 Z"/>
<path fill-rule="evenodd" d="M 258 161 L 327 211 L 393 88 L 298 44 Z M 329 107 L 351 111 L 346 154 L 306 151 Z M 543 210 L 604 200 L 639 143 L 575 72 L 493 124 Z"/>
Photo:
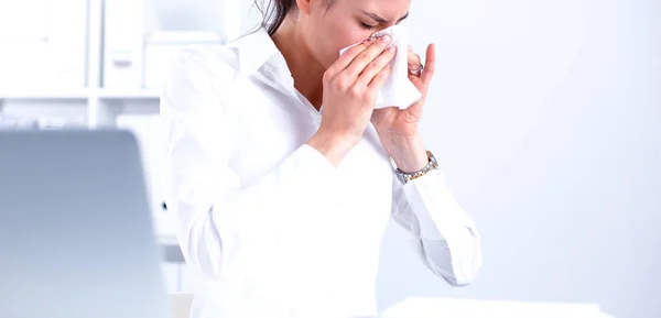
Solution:
<path fill-rule="evenodd" d="M 163 70 L 181 47 L 260 21 L 251 0 L 0 0 L 0 127 L 134 131 L 172 246 Z M 419 295 L 661 317 L 661 1 L 412 0 L 405 23 L 416 52 L 437 45 L 422 130 L 481 231 L 485 264 L 449 287 L 391 224 L 380 308 Z M 163 267 L 170 292 L 195 288 L 176 253 Z"/>

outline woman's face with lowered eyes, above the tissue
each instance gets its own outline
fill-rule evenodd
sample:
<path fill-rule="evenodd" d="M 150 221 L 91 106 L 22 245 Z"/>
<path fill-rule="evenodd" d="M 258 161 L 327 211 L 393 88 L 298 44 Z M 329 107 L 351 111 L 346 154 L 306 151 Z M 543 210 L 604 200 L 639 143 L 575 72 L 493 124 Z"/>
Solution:
<path fill-rule="evenodd" d="M 310 1 L 310 0 L 308 0 Z M 408 17 L 411 0 L 312 0 L 300 15 L 307 48 L 328 68 L 339 51 Z"/>

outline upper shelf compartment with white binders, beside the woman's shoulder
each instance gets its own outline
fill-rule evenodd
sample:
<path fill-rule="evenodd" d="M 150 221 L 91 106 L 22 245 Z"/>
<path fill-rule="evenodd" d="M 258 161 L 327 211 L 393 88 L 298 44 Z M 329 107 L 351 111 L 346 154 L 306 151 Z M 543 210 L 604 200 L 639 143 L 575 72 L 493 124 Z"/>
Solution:
<path fill-rule="evenodd" d="M 188 44 L 239 36 L 237 0 L 106 1 L 105 88 L 161 87 L 172 55 Z"/>

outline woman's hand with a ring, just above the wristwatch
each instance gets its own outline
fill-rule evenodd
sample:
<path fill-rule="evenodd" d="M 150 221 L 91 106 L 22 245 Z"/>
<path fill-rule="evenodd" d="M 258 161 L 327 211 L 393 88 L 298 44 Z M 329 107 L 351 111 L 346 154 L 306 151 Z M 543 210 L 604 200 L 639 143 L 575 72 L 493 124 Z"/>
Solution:
<path fill-rule="evenodd" d="M 418 123 L 436 68 L 435 55 L 435 46 L 430 44 L 424 69 L 420 74 L 414 74 L 421 68 L 422 59 L 409 47 L 409 79 L 420 90 L 422 98 L 407 109 L 401 110 L 398 107 L 375 109 L 371 116 L 371 123 L 379 134 L 381 144 L 397 166 L 404 172 L 416 172 L 429 162 Z"/>

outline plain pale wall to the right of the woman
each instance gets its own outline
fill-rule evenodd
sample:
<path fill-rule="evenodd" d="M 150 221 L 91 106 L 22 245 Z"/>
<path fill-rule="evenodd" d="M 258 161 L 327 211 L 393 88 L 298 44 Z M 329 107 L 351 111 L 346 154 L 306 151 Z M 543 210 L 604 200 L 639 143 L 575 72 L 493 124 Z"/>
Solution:
<path fill-rule="evenodd" d="M 413 0 L 437 44 L 422 125 L 484 240 L 452 288 L 384 238 L 381 307 L 409 295 L 595 301 L 661 317 L 661 1 Z"/>

